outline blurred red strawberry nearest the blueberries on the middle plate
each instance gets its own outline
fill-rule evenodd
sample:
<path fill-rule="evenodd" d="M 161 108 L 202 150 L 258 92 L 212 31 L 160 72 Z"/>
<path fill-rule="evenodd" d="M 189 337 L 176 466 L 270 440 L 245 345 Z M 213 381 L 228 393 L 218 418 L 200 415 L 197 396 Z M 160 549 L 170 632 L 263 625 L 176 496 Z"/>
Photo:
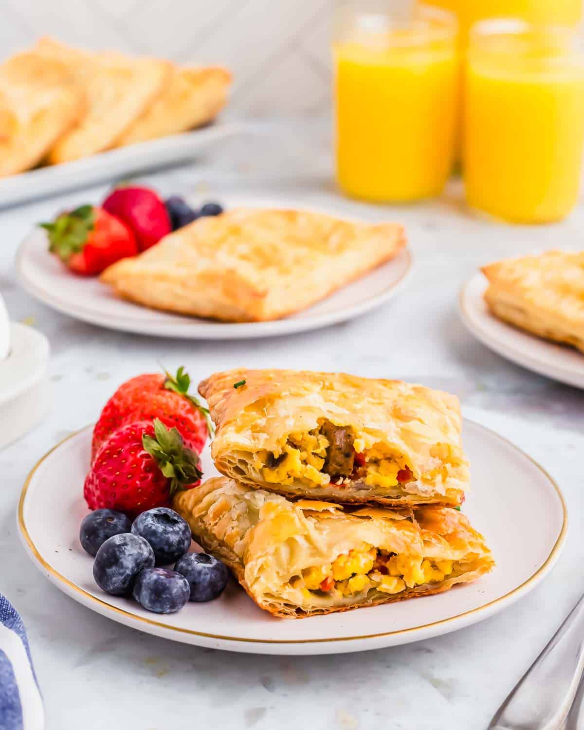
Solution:
<path fill-rule="evenodd" d="M 141 251 L 172 231 L 164 201 L 150 188 L 117 188 L 104 200 L 103 207 L 126 223 Z"/>

